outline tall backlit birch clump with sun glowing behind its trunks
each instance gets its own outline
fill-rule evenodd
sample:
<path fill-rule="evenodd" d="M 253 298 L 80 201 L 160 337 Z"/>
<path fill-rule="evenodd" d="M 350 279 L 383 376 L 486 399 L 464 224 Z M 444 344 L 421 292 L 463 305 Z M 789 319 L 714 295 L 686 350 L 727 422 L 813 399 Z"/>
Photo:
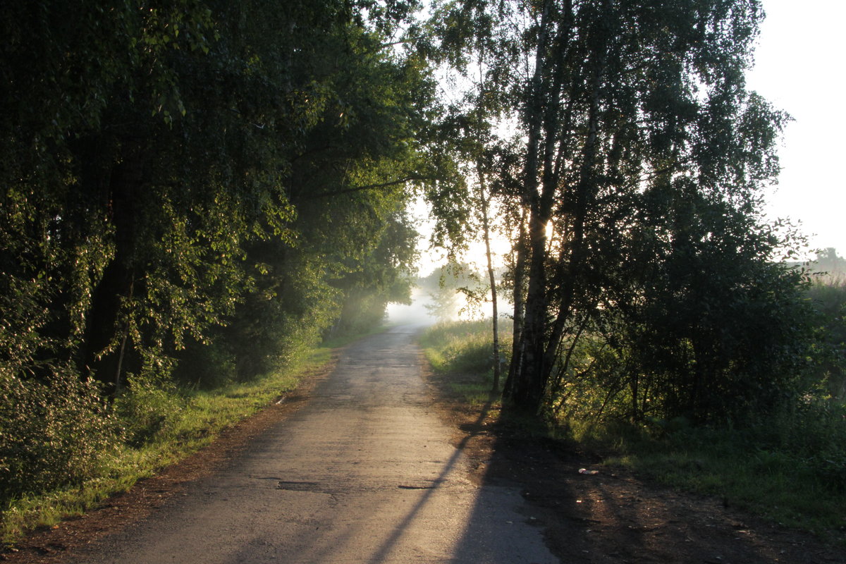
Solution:
<path fill-rule="evenodd" d="M 662 226 L 690 192 L 754 214 L 777 172 L 773 144 L 785 119 L 744 89 L 763 14 L 755 0 L 467 2 L 442 10 L 442 21 L 474 24 L 461 25 L 464 32 L 447 26 L 447 47 L 497 37 L 492 85 L 519 109 L 519 177 L 503 182 L 516 184 L 526 211 L 514 267 L 525 272 L 525 302 L 514 300 L 525 310 L 508 392 L 516 408 L 537 413 L 585 315 L 622 304 L 607 296 L 630 287 L 634 233 L 680 243 L 684 228 L 673 235 Z M 646 204 L 656 197 L 668 206 L 651 213 Z M 733 241 L 722 244 L 728 250 Z M 522 282 L 514 288 L 523 292 Z"/>

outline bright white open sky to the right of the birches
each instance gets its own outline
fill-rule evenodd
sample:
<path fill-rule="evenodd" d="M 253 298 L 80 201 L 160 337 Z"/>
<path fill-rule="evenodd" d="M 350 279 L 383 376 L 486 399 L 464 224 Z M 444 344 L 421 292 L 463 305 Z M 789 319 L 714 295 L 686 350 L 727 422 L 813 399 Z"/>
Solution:
<path fill-rule="evenodd" d="M 768 218 L 802 222 L 813 248 L 846 255 L 846 47 L 843 0 L 763 0 L 766 19 L 748 75 L 757 90 L 794 118 L 779 151 L 782 174 L 767 197 Z"/>

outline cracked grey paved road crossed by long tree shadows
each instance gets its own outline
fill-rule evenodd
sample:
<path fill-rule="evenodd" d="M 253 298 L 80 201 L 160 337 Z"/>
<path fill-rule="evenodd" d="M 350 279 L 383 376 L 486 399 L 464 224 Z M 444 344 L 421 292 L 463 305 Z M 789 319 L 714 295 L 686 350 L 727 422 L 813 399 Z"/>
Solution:
<path fill-rule="evenodd" d="M 399 327 L 351 345 L 238 460 L 77 561 L 558 562 L 517 490 L 467 479 L 414 337 Z"/>

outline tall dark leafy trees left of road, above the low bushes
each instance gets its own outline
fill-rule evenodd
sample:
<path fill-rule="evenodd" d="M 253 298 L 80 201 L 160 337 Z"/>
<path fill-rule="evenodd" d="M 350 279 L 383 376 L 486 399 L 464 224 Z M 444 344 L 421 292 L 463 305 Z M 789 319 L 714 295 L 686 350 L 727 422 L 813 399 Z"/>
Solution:
<path fill-rule="evenodd" d="M 346 290 L 332 284 L 362 267 L 352 239 L 375 252 L 388 224 L 407 224 L 398 210 L 420 177 L 431 85 L 419 57 L 390 46 L 414 9 L 4 7 L 2 283 L 31 303 L 20 319 L 7 309 L 10 334 L 41 331 L 19 359 L 72 360 L 117 392 L 275 286 L 256 282 L 277 261 L 264 251 L 333 277 L 318 301 L 336 315 Z M 354 227 L 355 214 L 371 222 Z M 402 271 L 408 245 L 375 260 Z M 315 264 L 321 247 L 332 268 Z M 371 289 L 393 284 L 388 270 Z"/>

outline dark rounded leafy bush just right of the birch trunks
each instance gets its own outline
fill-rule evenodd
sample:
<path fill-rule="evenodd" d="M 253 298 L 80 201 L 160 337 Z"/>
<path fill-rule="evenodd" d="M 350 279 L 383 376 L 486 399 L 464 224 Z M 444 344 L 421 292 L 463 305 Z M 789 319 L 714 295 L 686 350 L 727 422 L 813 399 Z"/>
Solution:
<path fill-rule="evenodd" d="M 771 261 L 770 228 L 694 191 L 684 200 L 667 211 L 676 221 L 634 235 L 629 286 L 602 300 L 605 340 L 626 359 L 630 419 L 744 424 L 805 384 L 807 276 Z"/>

